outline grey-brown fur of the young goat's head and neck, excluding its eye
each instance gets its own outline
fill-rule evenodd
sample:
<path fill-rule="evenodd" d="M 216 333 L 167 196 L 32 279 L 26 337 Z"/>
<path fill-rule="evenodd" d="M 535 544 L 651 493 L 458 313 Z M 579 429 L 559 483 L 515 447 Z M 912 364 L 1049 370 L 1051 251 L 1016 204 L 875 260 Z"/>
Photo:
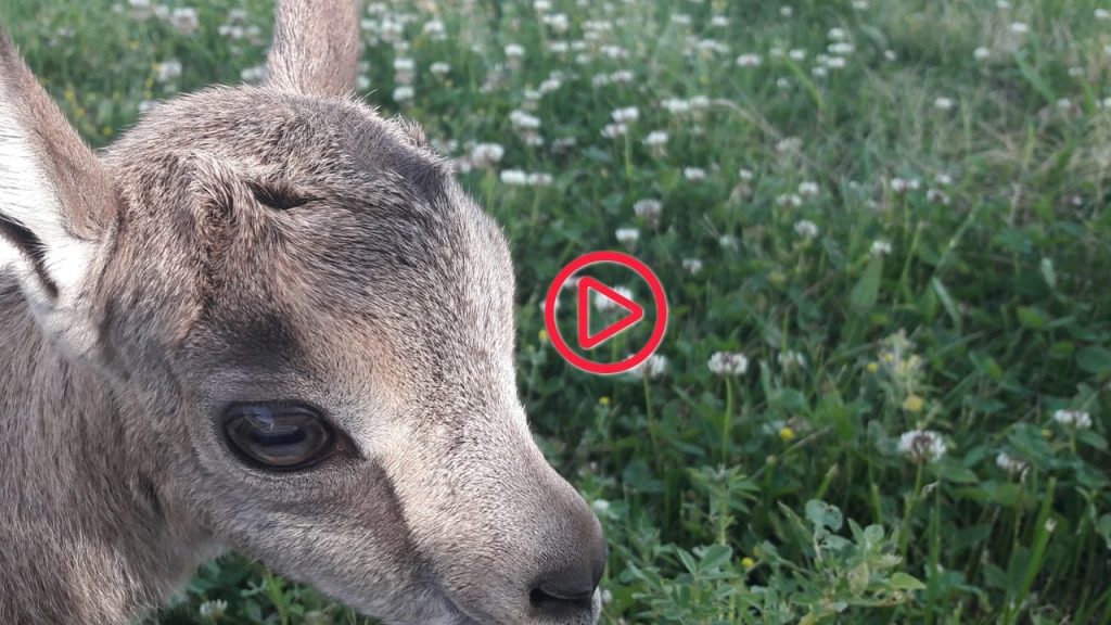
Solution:
<path fill-rule="evenodd" d="M 268 86 L 100 157 L 0 33 L 0 623 L 128 623 L 227 549 L 387 623 L 597 622 L 530 603 L 604 540 L 528 431 L 504 238 L 344 95 L 356 13 L 322 4 L 279 4 Z M 268 399 L 356 449 L 241 464 L 217 420 Z"/>

